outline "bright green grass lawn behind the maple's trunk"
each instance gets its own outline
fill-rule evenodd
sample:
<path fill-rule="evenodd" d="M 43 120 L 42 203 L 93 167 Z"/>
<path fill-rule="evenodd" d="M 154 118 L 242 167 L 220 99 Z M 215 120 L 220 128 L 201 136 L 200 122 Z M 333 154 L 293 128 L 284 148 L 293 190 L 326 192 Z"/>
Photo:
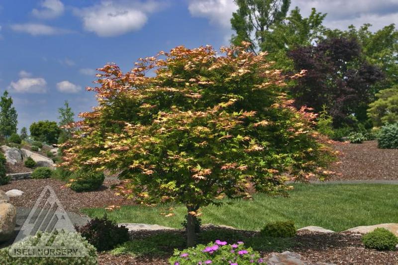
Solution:
<path fill-rule="evenodd" d="M 315 225 L 342 231 L 360 225 L 398 222 L 398 185 L 393 184 L 296 184 L 288 198 L 257 194 L 253 201 L 226 202 L 231 204 L 203 208 L 202 223 L 260 230 L 268 222 L 293 220 L 297 228 Z M 169 211 L 170 207 L 174 209 Z M 104 210 L 89 208 L 82 212 L 95 217 L 102 216 Z M 175 215 L 164 217 L 171 212 Z M 182 205 L 124 206 L 106 213 L 119 223 L 181 228 L 186 209 Z"/>

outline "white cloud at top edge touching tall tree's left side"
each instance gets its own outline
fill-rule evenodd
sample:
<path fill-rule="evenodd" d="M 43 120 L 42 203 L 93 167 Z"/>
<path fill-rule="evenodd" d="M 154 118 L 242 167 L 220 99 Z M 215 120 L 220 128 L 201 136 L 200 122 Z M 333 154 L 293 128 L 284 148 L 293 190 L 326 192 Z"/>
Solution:
<path fill-rule="evenodd" d="M 208 18 L 210 23 L 229 29 L 237 6 L 233 0 L 190 0 L 188 9 L 192 16 Z"/>

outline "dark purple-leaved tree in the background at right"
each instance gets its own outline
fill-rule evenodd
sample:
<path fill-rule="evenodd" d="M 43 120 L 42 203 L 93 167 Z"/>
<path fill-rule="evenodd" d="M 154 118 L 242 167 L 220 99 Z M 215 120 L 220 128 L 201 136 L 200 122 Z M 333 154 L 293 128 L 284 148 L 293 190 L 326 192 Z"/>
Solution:
<path fill-rule="evenodd" d="M 367 119 L 372 86 L 383 73 L 361 57 L 361 46 L 351 38 L 328 38 L 316 46 L 289 52 L 296 69 L 307 70 L 292 88 L 298 107 L 322 110 L 326 104 L 335 126 Z"/>

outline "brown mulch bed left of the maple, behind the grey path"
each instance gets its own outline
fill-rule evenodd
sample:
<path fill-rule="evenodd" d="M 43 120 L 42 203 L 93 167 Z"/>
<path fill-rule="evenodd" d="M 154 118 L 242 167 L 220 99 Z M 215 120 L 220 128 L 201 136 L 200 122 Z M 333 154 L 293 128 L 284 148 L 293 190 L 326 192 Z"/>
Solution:
<path fill-rule="evenodd" d="M 10 198 L 10 202 L 15 206 L 33 207 L 44 186 L 50 185 L 66 211 L 81 214 L 79 210 L 81 208 L 131 204 L 131 200 L 116 196 L 115 190 L 110 189 L 112 184 L 119 182 L 116 179 L 105 179 L 97 191 L 75 192 L 66 187 L 65 182 L 58 179 L 23 179 L 11 181 L 9 184 L 2 185 L 0 189 L 22 190 L 23 195 Z"/>

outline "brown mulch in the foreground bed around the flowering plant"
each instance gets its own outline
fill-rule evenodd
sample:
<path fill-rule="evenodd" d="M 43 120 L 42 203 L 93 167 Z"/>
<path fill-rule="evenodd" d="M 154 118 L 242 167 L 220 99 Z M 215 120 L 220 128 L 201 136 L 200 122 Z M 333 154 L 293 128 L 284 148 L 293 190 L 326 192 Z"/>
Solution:
<path fill-rule="evenodd" d="M 243 232 L 243 231 L 242 231 Z M 247 232 L 247 231 L 245 231 Z M 145 236 L 152 231 L 137 231 L 133 236 Z M 315 233 L 299 231 L 294 238 L 297 246 L 289 251 L 298 253 L 304 260 L 312 263 L 331 263 L 344 265 L 397 265 L 398 251 L 376 251 L 365 249 L 361 243 L 361 235 L 354 233 Z M 171 254 L 170 254 L 171 255 Z M 271 252 L 261 252 L 268 259 Z M 99 254 L 100 265 L 166 265 L 170 256 L 164 257 L 132 257 L 129 255 L 113 256 L 109 253 Z"/>

